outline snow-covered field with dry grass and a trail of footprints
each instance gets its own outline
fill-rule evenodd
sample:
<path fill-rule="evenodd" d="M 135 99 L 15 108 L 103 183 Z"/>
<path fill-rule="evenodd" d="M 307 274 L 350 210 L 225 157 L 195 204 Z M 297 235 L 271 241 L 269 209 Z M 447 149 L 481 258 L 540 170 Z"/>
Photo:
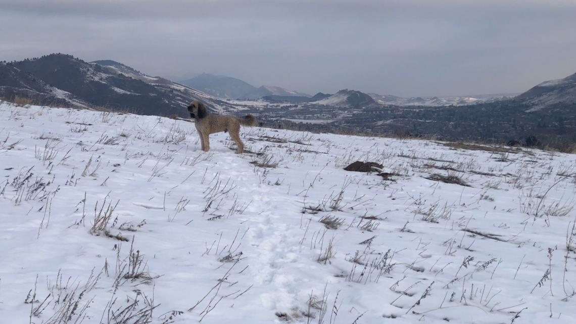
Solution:
<path fill-rule="evenodd" d="M 576 322 L 574 155 L 0 118 L 1 323 Z"/>

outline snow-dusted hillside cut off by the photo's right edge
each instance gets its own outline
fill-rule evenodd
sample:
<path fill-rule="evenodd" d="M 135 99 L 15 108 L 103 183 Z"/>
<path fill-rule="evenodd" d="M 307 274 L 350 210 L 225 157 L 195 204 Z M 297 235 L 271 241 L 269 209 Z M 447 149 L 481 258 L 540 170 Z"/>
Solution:
<path fill-rule="evenodd" d="M 516 97 L 535 109 L 554 104 L 576 103 L 576 73 L 569 77 L 542 82 Z"/>

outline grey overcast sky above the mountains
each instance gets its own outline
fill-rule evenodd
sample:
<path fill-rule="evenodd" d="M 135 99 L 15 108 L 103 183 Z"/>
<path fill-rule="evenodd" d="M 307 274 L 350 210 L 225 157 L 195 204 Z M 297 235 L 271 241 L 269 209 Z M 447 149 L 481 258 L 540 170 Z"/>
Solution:
<path fill-rule="evenodd" d="M 522 92 L 576 72 L 575 0 L 0 0 L 0 60 L 64 52 L 314 94 Z"/>

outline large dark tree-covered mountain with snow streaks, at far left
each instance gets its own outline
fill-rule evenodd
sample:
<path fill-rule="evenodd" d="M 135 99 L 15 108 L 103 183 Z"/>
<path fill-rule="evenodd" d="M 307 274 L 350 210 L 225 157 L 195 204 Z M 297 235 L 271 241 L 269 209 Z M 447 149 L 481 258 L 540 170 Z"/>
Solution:
<path fill-rule="evenodd" d="M 40 103 L 106 107 L 143 115 L 187 116 L 192 100 L 212 110 L 229 103 L 160 77 L 150 77 L 122 63 L 88 63 L 66 54 L 50 54 L 0 65 L 0 96 L 30 97 Z"/>

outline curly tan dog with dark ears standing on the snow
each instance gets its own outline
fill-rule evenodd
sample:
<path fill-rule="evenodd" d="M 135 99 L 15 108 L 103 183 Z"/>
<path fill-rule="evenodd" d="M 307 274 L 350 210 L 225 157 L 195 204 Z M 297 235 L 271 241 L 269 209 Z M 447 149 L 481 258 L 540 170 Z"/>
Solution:
<path fill-rule="evenodd" d="M 250 114 L 246 115 L 243 119 L 234 116 L 209 114 L 206 106 L 198 100 L 192 101 L 190 106 L 188 106 L 188 112 L 190 112 L 190 118 L 194 118 L 195 120 L 196 130 L 198 130 L 200 144 L 204 152 L 210 150 L 210 134 L 228 131 L 230 138 L 236 142 L 236 153 L 242 154 L 242 152 L 244 152 L 244 143 L 240 140 L 240 125 L 256 125 L 256 118 Z"/>

